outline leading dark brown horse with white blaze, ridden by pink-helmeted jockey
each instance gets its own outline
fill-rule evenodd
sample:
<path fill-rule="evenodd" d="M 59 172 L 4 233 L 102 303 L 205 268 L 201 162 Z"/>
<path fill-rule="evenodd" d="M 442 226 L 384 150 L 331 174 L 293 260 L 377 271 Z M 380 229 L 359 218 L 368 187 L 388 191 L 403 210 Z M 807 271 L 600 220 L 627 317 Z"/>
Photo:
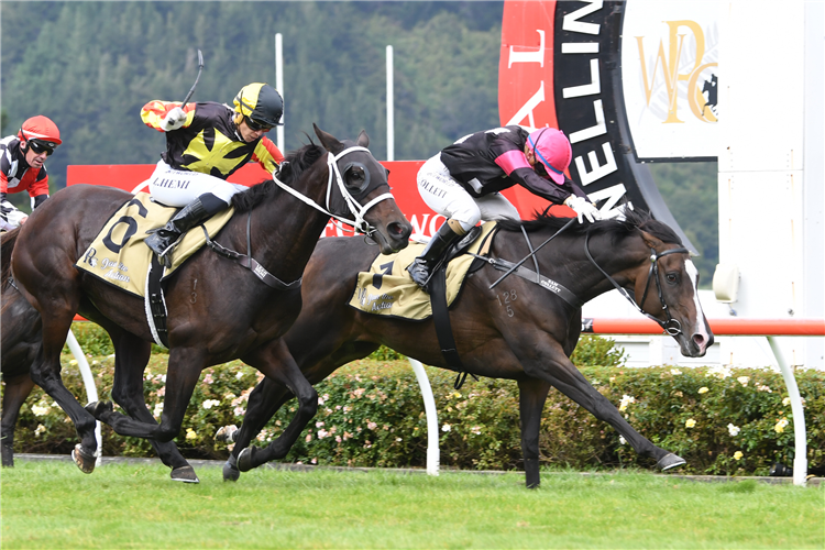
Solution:
<path fill-rule="evenodd" d="M 535 221 L 499 222 L 488 257 L 514 264 L 524 258 L 524 267 L 537 268 L 546 282 L 556 285 L 540 285 L 537 278 L 529 282 L 515 274 L 494 285 L 503 272 L 486 261 L 479 271 L 471 268 L 450 308 L 464 371 L 518 383 L 528 487 L 540 482 L 539 424 L 551 386 L 613 426 L 636 452 L 654 459 L 659 469 L 684 464 L 683 459 L 634 430 L 570 361 L 581 332 L 582 304 L 616 285 L 628 299 L 636 297 L 638 307 L 650 312 L 679 342 L 682 354 L 703 356 L 713 343 L 697 298 L 698 273 L 668 226 L 632 211 L 627 211 L 624 220 L 571 223 L 548 216 Z M 537 245 L 539 242 L 542 244 Z M 284 340 L 314 384 L 381 344 L 426 364 L 450 369 L 432 317 L 409 321 L 350 307 L 358 274 L 367 271 L 375 256 L 356 239 L 323 239 L 307 265 L 304 308 Z M 569 293 L 562 298 L 564 293 L 549 292 L 544 286 Z M 249 444 L 289 398 L 289 389 L 270 378 L 250 394 L 241 429 L 230 437 L 235 447 L 224 465 L 224 479 L 237 480 L 241 471 L 286 455 L 289 449 L 279 439 L 265 449 Z M 219 435 L 226 437 L 227 431 Z"/>

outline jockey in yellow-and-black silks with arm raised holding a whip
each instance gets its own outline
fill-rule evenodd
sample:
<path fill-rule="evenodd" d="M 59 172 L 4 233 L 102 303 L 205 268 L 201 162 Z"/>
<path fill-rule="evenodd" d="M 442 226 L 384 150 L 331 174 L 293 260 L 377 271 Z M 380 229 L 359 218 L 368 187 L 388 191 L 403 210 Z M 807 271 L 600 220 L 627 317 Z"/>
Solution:
<path fill-rule="evenodd" d="M 268 174 L 284 155 L 264 134 L 280 125 L 284 100 L 275 88 L 253 82 L 241 88 L 234 109 L 212 101 L 150 101 L 141 119 L 166 132 L 166 152 L 148 183 L 153 199 L 183 207 L 165 227 L 151 231 L 146 245 L 169 266 L 166 255 L 183 233 L 229 208 L 232 196 L 246 189 L 227 182 L 250 160 Z"/>

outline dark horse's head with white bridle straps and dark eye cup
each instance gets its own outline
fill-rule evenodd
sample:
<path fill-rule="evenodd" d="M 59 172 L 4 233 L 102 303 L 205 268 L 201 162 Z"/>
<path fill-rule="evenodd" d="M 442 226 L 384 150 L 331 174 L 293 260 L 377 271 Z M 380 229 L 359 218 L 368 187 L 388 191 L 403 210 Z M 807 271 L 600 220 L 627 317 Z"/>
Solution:
<path fill-rule="evenodd" d="M 358 143 L 341 142 L 316 124 L 312 127 L 328 151 L 329 210 L 352 219 L 355 229 L 375 240 L 383 254 L 406 248 L 413 227 L 389 193 L 387 169 L 366 148 L 370 144 L 366 132 L 361 131 Z"/>

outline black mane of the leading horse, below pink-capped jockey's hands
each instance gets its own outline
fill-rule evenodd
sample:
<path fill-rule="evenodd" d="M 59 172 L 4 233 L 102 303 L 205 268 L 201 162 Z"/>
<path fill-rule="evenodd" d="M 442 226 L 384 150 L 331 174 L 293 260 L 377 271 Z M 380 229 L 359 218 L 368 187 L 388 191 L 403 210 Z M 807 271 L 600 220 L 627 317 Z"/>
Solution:
<path fill-rule="evenodd" d="M 520 232 L 521 227 L 524 227 L 527 232 L 540 231 L 542 229 L 558 231 L 570 221 L 570 218 L 557 218 L 556 216 L 550 216 L 548 210 L 537 212 L 536 218 L 532 220 L 502 220 L 498 222 L 498 226 L 504 231 Z M 565 229 L 564 232 L 568 234 L 583 235 L 587 231 L 598 231 L 613 233 L 616 237 L 623 237 L 636 231 L 637 229 L 650 233 L 662 242 L 678 244 L 680 246 L 682 245 L 682 240 L 669 226 L 653 219 L 650 212 L 644 210 L 630 210 L 629 208 L 625 209 L 624 219 L 614 218 L 595 223 L 573 223 Z"/>

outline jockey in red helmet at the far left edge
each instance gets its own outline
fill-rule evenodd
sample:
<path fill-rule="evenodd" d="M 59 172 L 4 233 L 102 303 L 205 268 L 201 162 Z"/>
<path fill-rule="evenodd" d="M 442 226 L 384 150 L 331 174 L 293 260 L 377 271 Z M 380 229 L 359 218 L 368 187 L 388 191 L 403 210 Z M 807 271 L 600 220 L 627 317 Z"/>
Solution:
<path fill-rule="evenodd" d="M 32 209 L 48 198 L 43 163 L 61 143 L 57 125 L 42 114 L 23 122 L 18 135 L 0 140 L 0 231 L 20 227 L 29 218 L 7 200 L 7 194 L 29 191 Z"/>

